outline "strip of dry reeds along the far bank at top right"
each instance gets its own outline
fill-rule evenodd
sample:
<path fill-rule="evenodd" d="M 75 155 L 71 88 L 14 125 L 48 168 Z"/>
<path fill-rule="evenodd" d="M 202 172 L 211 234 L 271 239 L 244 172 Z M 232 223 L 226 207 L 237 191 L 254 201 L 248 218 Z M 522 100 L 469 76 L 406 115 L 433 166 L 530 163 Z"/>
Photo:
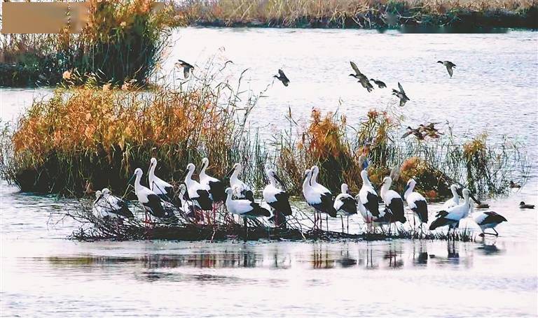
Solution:
<path fill-rule="evenodd" d="M 219 27 L 536 28 L 530 0 L 188 0 L 176 3 L 178 24 Z"/>

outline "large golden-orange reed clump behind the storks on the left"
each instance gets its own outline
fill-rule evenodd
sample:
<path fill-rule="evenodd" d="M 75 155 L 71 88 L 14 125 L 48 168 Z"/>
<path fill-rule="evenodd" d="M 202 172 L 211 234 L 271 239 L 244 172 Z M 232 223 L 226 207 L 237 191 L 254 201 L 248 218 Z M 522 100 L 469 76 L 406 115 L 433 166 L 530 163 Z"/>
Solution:
<path fill-rule="evenodd" d="M 188 162 L 205 156 L 211 173 L 225 175 L 257 146 L 254 138 L 245 140 L 240 114 L 218 96 L 209 86 L 57 89 L 34 101 L 14 129 L 4 129 L 1 170 L 22 191 L 77 195 L 107 186 L 123 191 L 151 157 L 166 180 L 179 180 Z"/>

